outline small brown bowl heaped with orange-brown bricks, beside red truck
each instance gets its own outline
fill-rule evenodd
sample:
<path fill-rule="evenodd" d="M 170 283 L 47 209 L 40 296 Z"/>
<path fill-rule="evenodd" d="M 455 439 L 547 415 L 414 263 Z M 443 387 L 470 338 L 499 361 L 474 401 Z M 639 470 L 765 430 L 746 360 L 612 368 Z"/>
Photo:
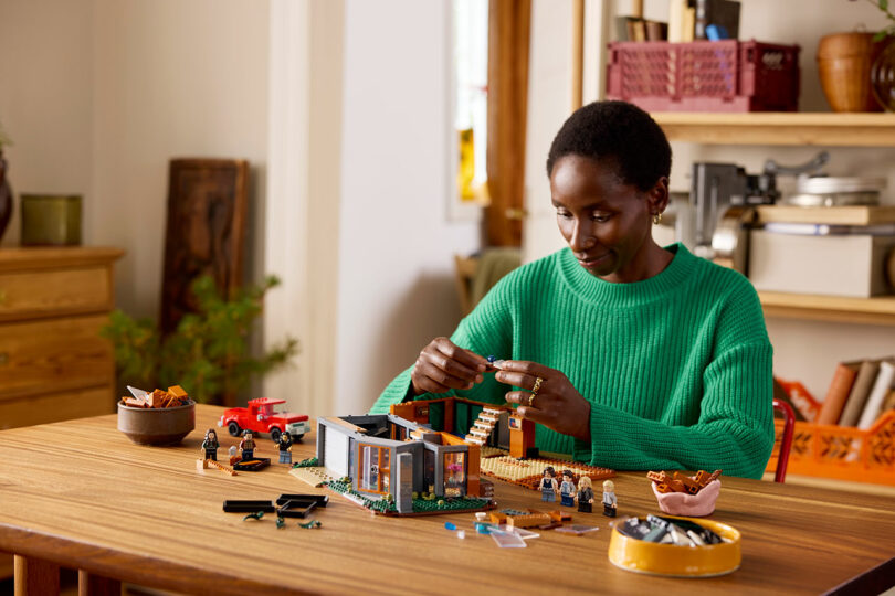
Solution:
<path fill-rule="evenodd" d="M 148 393 L 128 387 L 118 402 L 118 430 L 138 445 L 178 445 L 196 428 L 196 402 L 179 385 Z"/>

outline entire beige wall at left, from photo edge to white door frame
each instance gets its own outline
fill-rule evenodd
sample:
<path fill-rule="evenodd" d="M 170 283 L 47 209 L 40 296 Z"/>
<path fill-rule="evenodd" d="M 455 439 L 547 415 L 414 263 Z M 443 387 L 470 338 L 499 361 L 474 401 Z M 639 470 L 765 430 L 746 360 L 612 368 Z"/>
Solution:
<path fill-rule="evenodd" d="M 0 15 L 13 192 L 84 195 L 84 244 L 126 251 L 122 308 L 158 312 L 173 157 L 250 160 L 246 267 L 261 268 L 266 0 L 3 0 Z"/>

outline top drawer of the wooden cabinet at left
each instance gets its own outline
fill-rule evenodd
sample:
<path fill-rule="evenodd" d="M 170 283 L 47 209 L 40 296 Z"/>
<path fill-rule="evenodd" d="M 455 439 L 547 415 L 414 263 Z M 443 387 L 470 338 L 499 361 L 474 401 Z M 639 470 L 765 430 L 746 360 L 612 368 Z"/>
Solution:
<path fill-rule="evenodd" d="M 0 321 L 112 310 L 109 267 L 0 273 Z"/>

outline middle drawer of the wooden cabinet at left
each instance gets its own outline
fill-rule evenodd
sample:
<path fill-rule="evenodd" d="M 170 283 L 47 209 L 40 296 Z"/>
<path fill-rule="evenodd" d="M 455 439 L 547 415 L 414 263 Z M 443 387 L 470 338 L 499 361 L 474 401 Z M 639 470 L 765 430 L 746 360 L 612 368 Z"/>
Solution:
<path fill-rule="evenodd" d="M 0 324 L 0 403 L 114 384 L 112 344 L 99 337 L 105 315 Z"/>

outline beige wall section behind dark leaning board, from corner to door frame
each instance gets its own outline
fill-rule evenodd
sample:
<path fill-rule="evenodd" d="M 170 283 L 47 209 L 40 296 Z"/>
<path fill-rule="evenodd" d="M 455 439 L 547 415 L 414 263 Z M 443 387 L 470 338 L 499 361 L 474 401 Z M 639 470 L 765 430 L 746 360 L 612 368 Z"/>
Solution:
<path fill-rule="evenodd" d="M 122 246 L 118 304 L 157 316 L 168 161 L 252 166 L 250 272 L 260 268 L 267 150 L 268 3 L 94 0 L 90 244 Z"/>

